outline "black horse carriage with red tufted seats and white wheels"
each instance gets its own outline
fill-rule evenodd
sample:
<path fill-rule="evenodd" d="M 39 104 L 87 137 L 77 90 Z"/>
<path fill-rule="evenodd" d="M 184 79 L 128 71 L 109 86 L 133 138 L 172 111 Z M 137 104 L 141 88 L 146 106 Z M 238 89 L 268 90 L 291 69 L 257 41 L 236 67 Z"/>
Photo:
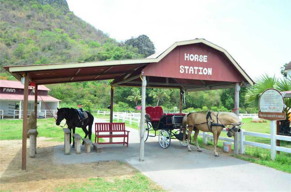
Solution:
<path fill-rule="evenodd" d="M 182 120 L 184 113 L 164 113 L 162 107 L 146 107 L 145 120 L 145 141 L 148 137 L 155 137 L 156 132 L 159 131 L 159 145 L 162 148 L 169 147 L 171 139 L 178 139 L 180 144 L 184 147 L 188 145 L 186 130 L 186 137 L 183 141 Z M 152 135 L 150 133 L 153 133 Z"/>

